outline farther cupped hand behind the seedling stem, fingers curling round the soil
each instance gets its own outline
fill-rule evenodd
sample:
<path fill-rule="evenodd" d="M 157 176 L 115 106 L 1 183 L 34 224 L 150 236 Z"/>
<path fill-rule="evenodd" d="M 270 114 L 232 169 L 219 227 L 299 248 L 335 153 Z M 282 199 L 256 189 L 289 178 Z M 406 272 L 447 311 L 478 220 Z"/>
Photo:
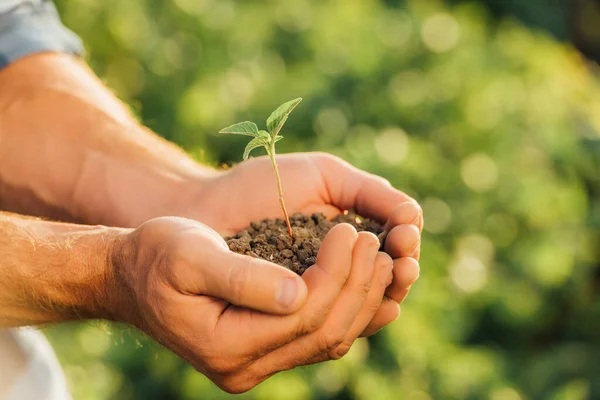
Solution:
<path fill-rule="evenodd" d="M 393 281 L 361 335 L 371 335 L 397 319 L 399 303 L 419 276 L 417 260 L 423 227 L 419 205 L 385 179 L 326 153 L 283 155 L 277 157 L 277 163 L 290 213 L 322 212 L 333 217 L 355 208 L 361 215 L 385 224 L 389 231 L 385 251 L 394 259 Z M 223 235 L 232 235 L 254 220 L 282 217 L 275 174 L 266 157 L 251 159 L 217 175 L 190 199 L 184 202 L 180 215 L 202 221 Z"/>

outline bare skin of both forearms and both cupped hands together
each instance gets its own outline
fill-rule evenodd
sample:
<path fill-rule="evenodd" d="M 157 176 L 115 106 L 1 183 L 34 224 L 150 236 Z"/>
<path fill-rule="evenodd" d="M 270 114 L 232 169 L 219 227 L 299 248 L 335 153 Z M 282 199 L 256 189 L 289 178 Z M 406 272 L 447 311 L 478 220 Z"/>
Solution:
<path fill-rule="evenodd" d="M 328 154 L 277 162 L 291 213 L 355 208 L 385 224 L 386 253 L 346 224 L 302 277 L 231 253 L 221 235 L 280 216 L 266 157 L 197 164 L 66 55 L 0 71 L 0 327 L 125 322 L 231 393 L 342 357 L 398 318 L 419 275 L 421 208 Z"/>

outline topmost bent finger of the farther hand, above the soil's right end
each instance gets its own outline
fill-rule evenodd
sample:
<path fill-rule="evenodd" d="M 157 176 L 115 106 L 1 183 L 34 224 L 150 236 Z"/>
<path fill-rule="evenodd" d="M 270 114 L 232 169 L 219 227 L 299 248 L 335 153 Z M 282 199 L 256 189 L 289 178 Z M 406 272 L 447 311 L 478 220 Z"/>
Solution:
<path fill-rule="evenodd" d="M 361 171 L 337 157 L 325 153 L 311 156 L 325 181 L 329 203 L 339 209 L 354 208 L 362 216 L 383 223 L 399 204 L 415 202 L 385 179 Z"/>

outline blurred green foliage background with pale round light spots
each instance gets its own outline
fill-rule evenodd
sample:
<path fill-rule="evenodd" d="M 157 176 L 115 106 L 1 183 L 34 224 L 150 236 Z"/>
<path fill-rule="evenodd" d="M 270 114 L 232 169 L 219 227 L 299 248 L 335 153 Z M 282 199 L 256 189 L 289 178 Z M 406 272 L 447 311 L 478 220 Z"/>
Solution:
<path fill-rule="evenodd" d="M 239 398 L 600 398 L 596 2 L 57 5 L 96 73 L 199 160 L 239 162 L 245 142 L 215 132 L 302 96 L 281 152 L 334 153 L 423 205 L 400 320 Z M 229 397 L 132 329 L 46 333 L 75 399 Z"/>

